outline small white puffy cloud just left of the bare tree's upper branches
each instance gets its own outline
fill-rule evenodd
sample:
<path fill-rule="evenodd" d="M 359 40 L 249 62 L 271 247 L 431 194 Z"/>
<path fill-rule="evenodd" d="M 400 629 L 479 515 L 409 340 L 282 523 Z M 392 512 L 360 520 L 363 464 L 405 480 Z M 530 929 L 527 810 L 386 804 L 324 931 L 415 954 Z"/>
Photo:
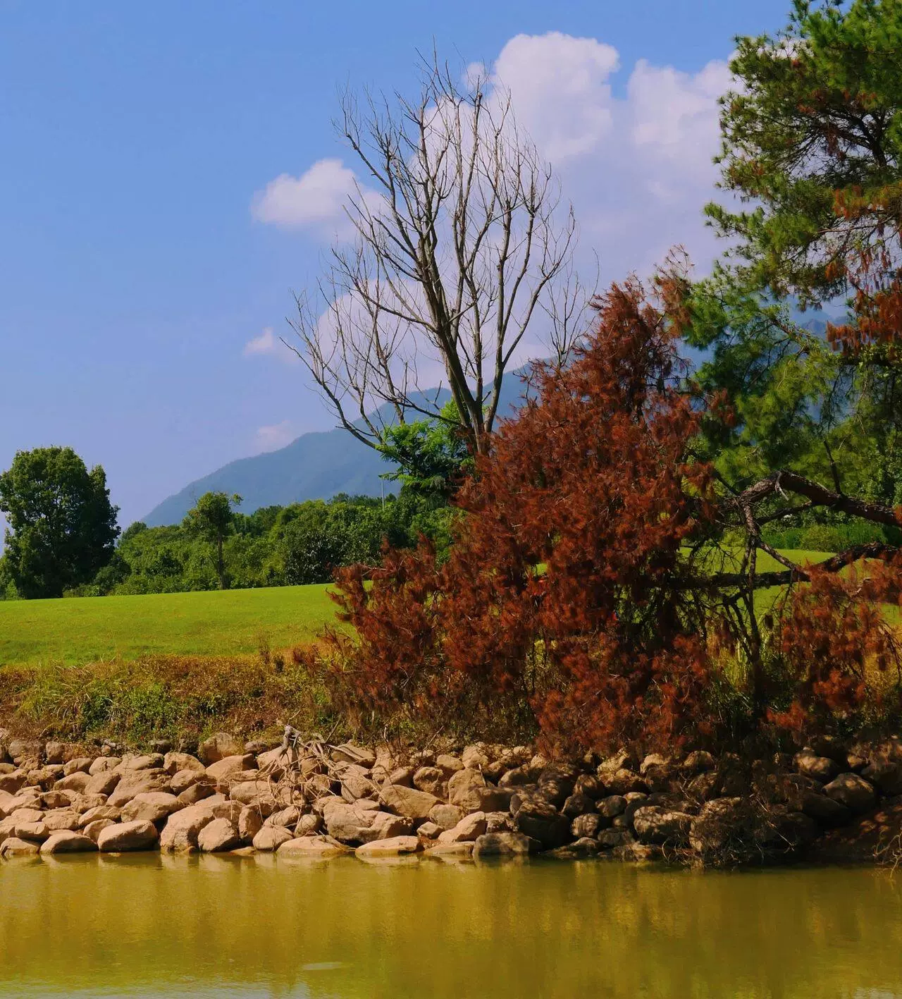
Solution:
<path fill-rule="evenodd" d="M 270 181 L 254 196 L 251 213 L 285 229 L 329 230 L 345 219 L 344 206 L 356 190 L 354 171 L 341 160 L 319 160 L 300 177 L 281 174 Z"/>

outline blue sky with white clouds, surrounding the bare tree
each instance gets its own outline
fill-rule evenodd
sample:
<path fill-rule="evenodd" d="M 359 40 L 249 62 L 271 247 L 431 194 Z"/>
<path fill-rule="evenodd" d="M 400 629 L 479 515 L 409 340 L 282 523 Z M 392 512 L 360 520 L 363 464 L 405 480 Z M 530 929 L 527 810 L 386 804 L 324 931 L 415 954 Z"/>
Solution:
<path fill-rule="evenodd" d="M 305 174 L 326 161 L 341 194 L 338 90 L 411 92 L 434 40 L 509 82 L 605 277 L 673 239 L 703 264 L 723 60 L 786 9 L 0 0 L 0 469 L 71 445 L 107 470 L 125 525 L 332 426 L 276 349 L 327 246 Z"/>

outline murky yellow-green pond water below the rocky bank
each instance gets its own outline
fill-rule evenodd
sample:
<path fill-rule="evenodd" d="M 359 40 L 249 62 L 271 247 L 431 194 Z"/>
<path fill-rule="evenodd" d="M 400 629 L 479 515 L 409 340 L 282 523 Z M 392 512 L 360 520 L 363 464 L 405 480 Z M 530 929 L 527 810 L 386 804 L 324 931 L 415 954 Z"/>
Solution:
<path fill-rule="evenodd" d="M 902 873 L 0 863 L 0 996 L 902 996 Z"/>

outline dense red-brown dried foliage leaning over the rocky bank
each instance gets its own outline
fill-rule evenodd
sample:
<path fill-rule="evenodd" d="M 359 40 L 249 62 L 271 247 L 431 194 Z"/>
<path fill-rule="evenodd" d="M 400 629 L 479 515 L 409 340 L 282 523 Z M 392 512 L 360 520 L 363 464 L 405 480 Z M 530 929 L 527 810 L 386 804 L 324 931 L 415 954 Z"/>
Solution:
<path fill-rule="evenodd" d="M 448 562 L 424 545 L 389 552 L 372 588 L 361 567 L 339 573 L 359 636 L 330 638 L 344 705 L 519 705 L 566 748 L 703 727 L 707 614 L 681 555 L 714 512 L 710 470 L 688 458 L 698 413 L 666 309 L 637 281 L 597 309 L 572 364 L 535 368 L 534 398 L 477 461 Z"/>

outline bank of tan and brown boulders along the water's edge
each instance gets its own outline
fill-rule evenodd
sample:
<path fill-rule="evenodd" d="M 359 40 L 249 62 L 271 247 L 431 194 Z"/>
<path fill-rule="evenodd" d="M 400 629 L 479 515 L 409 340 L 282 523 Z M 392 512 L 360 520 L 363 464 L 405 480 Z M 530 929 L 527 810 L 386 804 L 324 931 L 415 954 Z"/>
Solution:
<path fill-rule="evenodd" d="M 85 753 L 0 729 L 0 858 L 164 850 L 896 863 L 902 840 L 902 818 L 880 824 L 902 813 L 896 738 L 854 747 L 824 738 L 753 761 L 701 750 L 551 761 L 530 746 L 486 743 L 399 751 L 304 741 L 292 729 L 275 745 L 219 733 L 196 754 L 151 750 L 106 743 Z M 866 855 L 854 848 L 862 837 Z"/>

